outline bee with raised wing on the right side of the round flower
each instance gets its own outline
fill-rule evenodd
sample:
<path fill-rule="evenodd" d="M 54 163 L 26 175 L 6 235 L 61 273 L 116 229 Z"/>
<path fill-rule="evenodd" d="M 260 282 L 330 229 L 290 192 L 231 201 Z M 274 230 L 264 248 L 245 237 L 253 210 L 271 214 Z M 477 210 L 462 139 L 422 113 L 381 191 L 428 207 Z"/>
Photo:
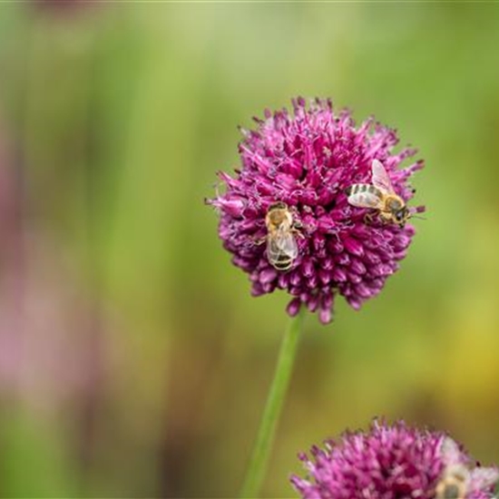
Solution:
<path fill-rule="evenodd" d="M 381 161 L 371 164 L 373 183 L 354 183 L 347 189 L 348 202 L 357 208 L 378 210 L 381 221 L 404 227 L 411 213 L 406 201 L 398 196 Z"/>

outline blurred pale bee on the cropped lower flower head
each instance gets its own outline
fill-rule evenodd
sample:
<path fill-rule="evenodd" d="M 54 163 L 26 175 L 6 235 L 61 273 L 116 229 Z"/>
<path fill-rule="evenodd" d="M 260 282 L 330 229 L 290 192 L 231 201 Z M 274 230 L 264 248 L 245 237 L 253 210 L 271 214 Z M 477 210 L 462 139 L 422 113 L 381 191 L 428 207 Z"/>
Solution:
<path fill-rule="evenodd" d="M 435 487 L 435 499 L 465 499 L 468 494 L 492 486 L 498 478 L 494 468 L 476 467 L 470 470 L 460 460 L 459 447 L 446 437 L 442 443 L 444 473 Z"/>

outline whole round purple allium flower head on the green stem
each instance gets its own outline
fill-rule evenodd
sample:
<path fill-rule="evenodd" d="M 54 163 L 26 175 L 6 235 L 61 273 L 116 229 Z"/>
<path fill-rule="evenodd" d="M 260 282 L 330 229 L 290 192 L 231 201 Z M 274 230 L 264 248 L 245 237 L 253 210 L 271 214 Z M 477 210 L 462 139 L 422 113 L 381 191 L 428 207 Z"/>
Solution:
<path fill-rule="evenodd" d="M 286 289 L 293 297 L 289 315 L 304 304 L 326 324 L 337 293 L 356 309 L 379 293 L 415 234 L 411 225 L 383 221 L 379 211 L 350 204 L 348 188 L 372 184 L 377 160 L 406 203 L 414 194 L 406 181 L 423 161 L 397 169 L 416 150 L 394 152 L 394 130 L 374 118 L 357 127 L 347 110 L 333 111 L 330 101 L 298 98 L 292 114 L 266 111 L 255 122 L 256 130 L 241 130 L 240 170 L 233 177 L 220 172 L 225 192 L 208 201 L 220 210 L 220 239 L 233 263 L 248 272 L 253 296 Z M 276 205 L 290 218 L 269 226 Z"/>

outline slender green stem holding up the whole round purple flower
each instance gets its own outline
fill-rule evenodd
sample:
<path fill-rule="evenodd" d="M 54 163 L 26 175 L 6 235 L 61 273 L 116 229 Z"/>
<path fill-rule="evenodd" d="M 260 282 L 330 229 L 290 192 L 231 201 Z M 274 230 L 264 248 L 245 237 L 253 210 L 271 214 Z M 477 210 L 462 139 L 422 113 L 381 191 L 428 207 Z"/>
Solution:
<path fill-rule="evenodd" d="M 241 498 L 254 499 L 259 495 L 259 489 L 269 463 L 270 450 L 272 449 L 279 415 L 288 391 L 289 378 L 297 354 L 298 338 L 304 314 L 304 310 L 301 309 L 295 318 L 291 318 L 282 339 L 274 380 L 270 386 L 267 405 L 261 418 L 259 433 L 253 447 L 246 478 L 240 491 Z"/>

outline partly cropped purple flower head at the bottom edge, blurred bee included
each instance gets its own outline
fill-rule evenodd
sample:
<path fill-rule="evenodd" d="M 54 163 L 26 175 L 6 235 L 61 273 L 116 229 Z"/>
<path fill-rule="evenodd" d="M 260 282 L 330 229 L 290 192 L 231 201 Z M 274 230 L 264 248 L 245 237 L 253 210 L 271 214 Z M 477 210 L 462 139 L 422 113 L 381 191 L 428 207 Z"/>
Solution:
<path fill-rule="evenodd" d="M 291 477 L 304 499 L 490 499 L 497 468 L 484 468 L 449 436 L 375 421 L 368 433 L 300 455 L 307 478 Z"/>

